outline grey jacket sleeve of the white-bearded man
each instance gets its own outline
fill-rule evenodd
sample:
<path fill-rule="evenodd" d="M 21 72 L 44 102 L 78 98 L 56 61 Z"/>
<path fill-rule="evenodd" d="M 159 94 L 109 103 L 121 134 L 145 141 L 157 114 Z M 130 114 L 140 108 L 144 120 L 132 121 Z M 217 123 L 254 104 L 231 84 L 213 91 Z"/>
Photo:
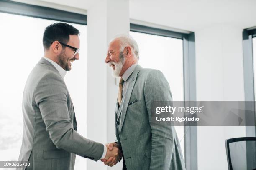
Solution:
<path fill-rule="evenodd" d="M 172 100 L 169 84 L 162 72 L 151 70 L 148 73 L 144 95 L 152 133 L 150 170 L 169 170 L 174 152 L 174 128 L 151 122 L 151 103 Z"/>

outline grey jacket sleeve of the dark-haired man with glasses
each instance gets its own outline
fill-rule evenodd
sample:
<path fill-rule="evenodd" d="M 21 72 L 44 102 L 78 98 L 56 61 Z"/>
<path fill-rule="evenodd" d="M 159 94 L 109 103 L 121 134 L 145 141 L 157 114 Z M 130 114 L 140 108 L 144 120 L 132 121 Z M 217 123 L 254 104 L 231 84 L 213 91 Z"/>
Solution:
<path fill-rule="evenodd" d="M 79 135 L 70 122 L 67 107 L 67 87 L 59 75 L 48 73 L 34 92 L 46 131 L 58 149 L 64 149 L 85 158 L 99 160 L 104 146 Z"/>

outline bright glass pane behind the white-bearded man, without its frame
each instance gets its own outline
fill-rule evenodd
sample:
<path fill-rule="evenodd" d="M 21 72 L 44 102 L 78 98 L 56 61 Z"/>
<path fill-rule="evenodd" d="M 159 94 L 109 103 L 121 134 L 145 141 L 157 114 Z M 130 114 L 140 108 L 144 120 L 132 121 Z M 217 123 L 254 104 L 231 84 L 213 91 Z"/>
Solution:
<path fill-rule="evenodd" d="M 130 35 L 138 43 L 140 50 L 138 63 L 141 67 L 163 72 L 169 82 L 172 99 L 184 100 L 182 40 L 139 32 L 130 32 Z M 175 126 L 175 129 L 184 158 L 184 126 Z"/>

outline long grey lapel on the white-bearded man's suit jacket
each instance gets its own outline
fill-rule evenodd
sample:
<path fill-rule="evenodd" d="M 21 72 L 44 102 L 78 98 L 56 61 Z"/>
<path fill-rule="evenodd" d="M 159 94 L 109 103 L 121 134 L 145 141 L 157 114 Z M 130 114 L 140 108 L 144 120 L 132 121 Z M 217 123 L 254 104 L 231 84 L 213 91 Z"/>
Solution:
<path fill-rule="evenodd" d="M 141 66 L 140 65 L 136 66 L 135 70 L 133 71 L 133 73 L 131 74 L 131 76 L 128 78 L 128 80 L 126 82 L 127 83 L 126 84 L 127 91 L 125 92 L 125 95 L 123 96 L 123 99 L 122 99 L 122 102 L 121 102 L 121 105 L 120 105 L 120 108 L 119 108 L 119 111 L 118 111 L 118 117 L 117 117 L 117 120 L 120 117 L 120 133 L 122 131 L 123 122 L 125 120 L 127 107 L 128 107 L 128 104 L 129 104 L 129 101 L 130 101 L 130 98 L 131 98 L 131 93 L 133 91 L 133 87 L 134 87 L 134 84 L 136 82 L 138 72 L 140 70 L 141 70 Z"/>

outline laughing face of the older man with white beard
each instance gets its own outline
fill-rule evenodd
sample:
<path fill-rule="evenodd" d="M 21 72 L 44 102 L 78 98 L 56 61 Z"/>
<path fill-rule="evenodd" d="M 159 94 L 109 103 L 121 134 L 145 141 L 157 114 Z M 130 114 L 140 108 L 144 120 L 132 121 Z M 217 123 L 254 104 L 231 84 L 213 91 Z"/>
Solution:
<path fill-rule="evenodd" d="M 120 52 L 120 40 L 113 40 L 113 42 L 109 44 L 105 62 L 112 68 L 112 75 L 114 77 L 120 77 L 120 72 L 125 62 L 123 52 Z"/>

